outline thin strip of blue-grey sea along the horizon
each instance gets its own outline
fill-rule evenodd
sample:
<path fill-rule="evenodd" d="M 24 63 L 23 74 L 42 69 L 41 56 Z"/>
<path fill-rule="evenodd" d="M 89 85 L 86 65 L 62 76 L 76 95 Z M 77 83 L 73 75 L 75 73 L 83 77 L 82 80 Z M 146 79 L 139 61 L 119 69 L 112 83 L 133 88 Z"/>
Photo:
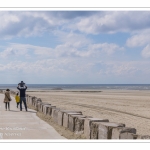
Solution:
<path fill-rule="evenodd" d="M 0 84 L 0 89 L 16 90 L 16 84 Z M 150 84 L 27 84 L 28 90 L 150 90 Z"/>

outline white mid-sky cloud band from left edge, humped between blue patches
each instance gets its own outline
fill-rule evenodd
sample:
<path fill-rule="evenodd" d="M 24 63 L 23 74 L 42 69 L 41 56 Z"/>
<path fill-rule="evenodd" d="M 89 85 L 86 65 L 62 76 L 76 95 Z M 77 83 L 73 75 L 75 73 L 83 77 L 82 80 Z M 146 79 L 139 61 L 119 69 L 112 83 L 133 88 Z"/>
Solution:
<path fill-rule="evenodd" d="M 47 58 L 72 58 L 82 57 L 91 58 L 99 57 L 102 55 L 108 56 L 116 53 L 117 51 L 124 50 L 114 43 L 98 43 L 94 44 L 93 41 L 85 35 L 66 32 L 55 32 L 55 36 L 59 37 L 61 44 L 56 47 L 42 47 L 30 44 L 10 43 L 4 51 L 0 52 L 0 57 L 8 58 L 10 56 L 34 59 L 47 59 Z"/>

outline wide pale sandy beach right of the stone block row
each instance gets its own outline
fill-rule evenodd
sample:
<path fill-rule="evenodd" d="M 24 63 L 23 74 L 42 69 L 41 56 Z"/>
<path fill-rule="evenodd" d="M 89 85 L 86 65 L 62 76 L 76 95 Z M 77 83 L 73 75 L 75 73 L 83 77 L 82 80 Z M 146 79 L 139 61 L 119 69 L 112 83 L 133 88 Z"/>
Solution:
<path fill-rule="evenodd" d="M 102 90 L 101 92 L 39 91 L 27 94 L 58 108 L 80 110 L 84 115 L 109 119 L 150 135 L 150 91 Z"/>

